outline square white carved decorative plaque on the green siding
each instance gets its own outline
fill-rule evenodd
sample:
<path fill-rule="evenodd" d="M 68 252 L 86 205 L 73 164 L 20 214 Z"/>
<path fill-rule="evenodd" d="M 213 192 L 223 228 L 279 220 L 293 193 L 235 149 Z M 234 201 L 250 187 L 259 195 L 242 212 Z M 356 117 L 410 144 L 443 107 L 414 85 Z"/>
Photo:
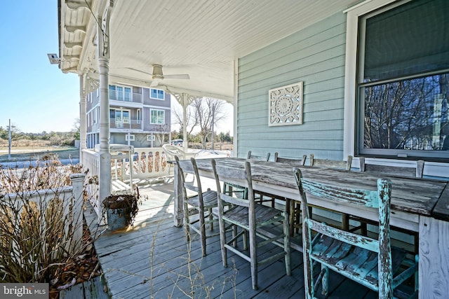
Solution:
<path fill-rule="evenodd" d="M 268 91 L 268 125 L 302 124 L 302 82 Z"/>

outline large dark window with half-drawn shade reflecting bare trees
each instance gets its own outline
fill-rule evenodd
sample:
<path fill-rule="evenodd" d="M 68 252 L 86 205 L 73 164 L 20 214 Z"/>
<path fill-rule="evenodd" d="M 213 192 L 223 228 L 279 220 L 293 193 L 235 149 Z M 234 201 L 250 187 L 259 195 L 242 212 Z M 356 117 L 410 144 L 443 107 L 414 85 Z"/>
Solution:
<path fill-rule="evenodd" d="M 358 71 L 352 77 L 356 154 L 447 158 L 449 1 L 396 1 L 375 8 L 348 13 L 347 35 L 354 16 L 361 15 L 358 41 L 347 43 L 358 45 L 358 55 L 349 50 L 357 62 L 347 56 L 346 66 L 347 80 L 351 65 Z M 347 90 L 347 102 L 348 96 Z"/>

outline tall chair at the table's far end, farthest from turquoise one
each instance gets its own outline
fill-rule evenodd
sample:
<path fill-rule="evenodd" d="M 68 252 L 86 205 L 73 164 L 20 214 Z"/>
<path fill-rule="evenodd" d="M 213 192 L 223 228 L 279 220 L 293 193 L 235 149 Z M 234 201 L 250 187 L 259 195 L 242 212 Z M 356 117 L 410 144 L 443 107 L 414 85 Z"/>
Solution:
<path fill-rule="evenodd" d="M 186 230 L 187 241 L 191 240 L 190 229 L 194 230 L 200 235 L 201 249 L 203 256 L 206 256 L 206 239 L 219 234 L 215 229 L 213 232 L 213 223 L 217 221 L 214 217 L 212 209 L 217 207 L 217 191 L 204 190 L 201 187 L 201 180 L 196 166 L 196 160 L 180 160 L 175 155 L 176 165 L 180 172 L 180 179 L 182 184 L 182 200 L 184 203 L 184 225 Z M 187 174 L 194 175 L 193 182 L 185 181 Z M 212 233 L 206 233 L 206 225 L 210 225 Z"/>

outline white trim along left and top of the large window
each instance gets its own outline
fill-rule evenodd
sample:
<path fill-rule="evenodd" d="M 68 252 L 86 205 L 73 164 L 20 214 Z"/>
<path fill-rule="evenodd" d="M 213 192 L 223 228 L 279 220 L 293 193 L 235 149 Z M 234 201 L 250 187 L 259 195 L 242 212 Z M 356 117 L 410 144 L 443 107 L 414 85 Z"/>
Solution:
<path fill-rule="evenodd" d="M 356 145 L 356 71 L 358 18 L 396 0 L 367 0 L 349 8 L 346 23 L 346 57 L 344 68 L 343 157 L 354 156 Z M 410 0 L 411 1 L 411 0 Z M 406 3 L 404 2 L 401 2 Z"/>

